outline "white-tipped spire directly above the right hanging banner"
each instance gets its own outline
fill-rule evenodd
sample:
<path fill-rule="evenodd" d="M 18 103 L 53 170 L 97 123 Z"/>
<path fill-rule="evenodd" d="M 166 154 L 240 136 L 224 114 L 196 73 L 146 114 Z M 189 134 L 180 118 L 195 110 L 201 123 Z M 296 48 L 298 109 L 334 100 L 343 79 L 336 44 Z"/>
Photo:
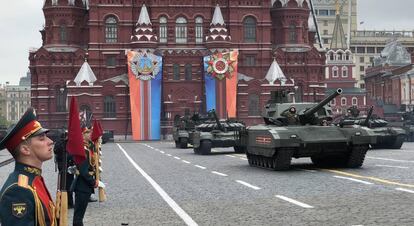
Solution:
<path fill-rule="evenodd" d="M 229 42 L 231 37 L 227 30 L 220 6 L 217 4 L 214 9 L 213 19 L 210 23 L 210 29 L 206 36 L 206 42 Z"/>

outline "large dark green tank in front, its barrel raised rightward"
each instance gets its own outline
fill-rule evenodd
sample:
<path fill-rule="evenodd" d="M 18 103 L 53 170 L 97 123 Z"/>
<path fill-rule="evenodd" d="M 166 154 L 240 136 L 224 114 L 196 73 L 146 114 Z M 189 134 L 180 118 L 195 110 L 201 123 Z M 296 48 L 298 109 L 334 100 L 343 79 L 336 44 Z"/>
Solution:
<path fill-rule="evenodd" d="M 376 137 L 368 128 L 340 128 L 326 125 L 332 120 L 327 105 L 342 93 L 337 89 L 319 103 L 286 103 L 286 94 L 272 92 L 265 105 L 265 124 L 247 127 L 242 135 L 250 166 L 288 170 L 292 158 L 310 157 L 317 166 L 361 167 Z M 285 112 L 294 106 L 295 119 Z"/>

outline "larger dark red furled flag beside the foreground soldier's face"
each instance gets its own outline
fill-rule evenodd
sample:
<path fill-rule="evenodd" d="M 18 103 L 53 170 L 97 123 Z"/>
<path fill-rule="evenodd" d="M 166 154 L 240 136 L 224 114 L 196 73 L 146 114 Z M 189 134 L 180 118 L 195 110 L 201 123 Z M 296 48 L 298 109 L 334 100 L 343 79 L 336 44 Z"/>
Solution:
<path fill-rule="evenodd" d="M 83 148 L 82 130 L 80 128 L 79 110 L 75 97 L 70 100 L 68 142 L 66 150 L 73 156 L 76 164 L 86 160 L 85 149 Z"/>

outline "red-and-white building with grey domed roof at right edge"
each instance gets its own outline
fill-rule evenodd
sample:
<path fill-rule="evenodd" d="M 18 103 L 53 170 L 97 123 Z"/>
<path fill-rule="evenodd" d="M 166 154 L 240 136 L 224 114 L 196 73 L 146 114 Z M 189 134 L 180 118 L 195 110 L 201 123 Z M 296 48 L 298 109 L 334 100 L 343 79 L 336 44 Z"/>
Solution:
<path fill-rule="evenodd" d="M 390 41 L 365 72 L 368 103 L 375 113 L 390 120 L 399 120 L 399 112 L 414 106 L 412 58 L 397 40 Z"/>

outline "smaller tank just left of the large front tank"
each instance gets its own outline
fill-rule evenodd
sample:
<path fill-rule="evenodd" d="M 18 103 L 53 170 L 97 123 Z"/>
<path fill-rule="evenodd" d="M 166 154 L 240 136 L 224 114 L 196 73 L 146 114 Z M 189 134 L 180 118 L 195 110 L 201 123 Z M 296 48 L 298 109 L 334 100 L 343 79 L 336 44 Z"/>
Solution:
<path fill-rule="evenodd" d="M 208 155 L 212 148 L 224 147 L 233 147 L 236 153 L 244 153 L 246 147 L 240 143 L 240 134 L 246 129 L 245 124 L 234 119 L 219 120 L 215 110 L 209 114 L 213 120 L 197 125 L 193 133 L 194 153 Z"/>

